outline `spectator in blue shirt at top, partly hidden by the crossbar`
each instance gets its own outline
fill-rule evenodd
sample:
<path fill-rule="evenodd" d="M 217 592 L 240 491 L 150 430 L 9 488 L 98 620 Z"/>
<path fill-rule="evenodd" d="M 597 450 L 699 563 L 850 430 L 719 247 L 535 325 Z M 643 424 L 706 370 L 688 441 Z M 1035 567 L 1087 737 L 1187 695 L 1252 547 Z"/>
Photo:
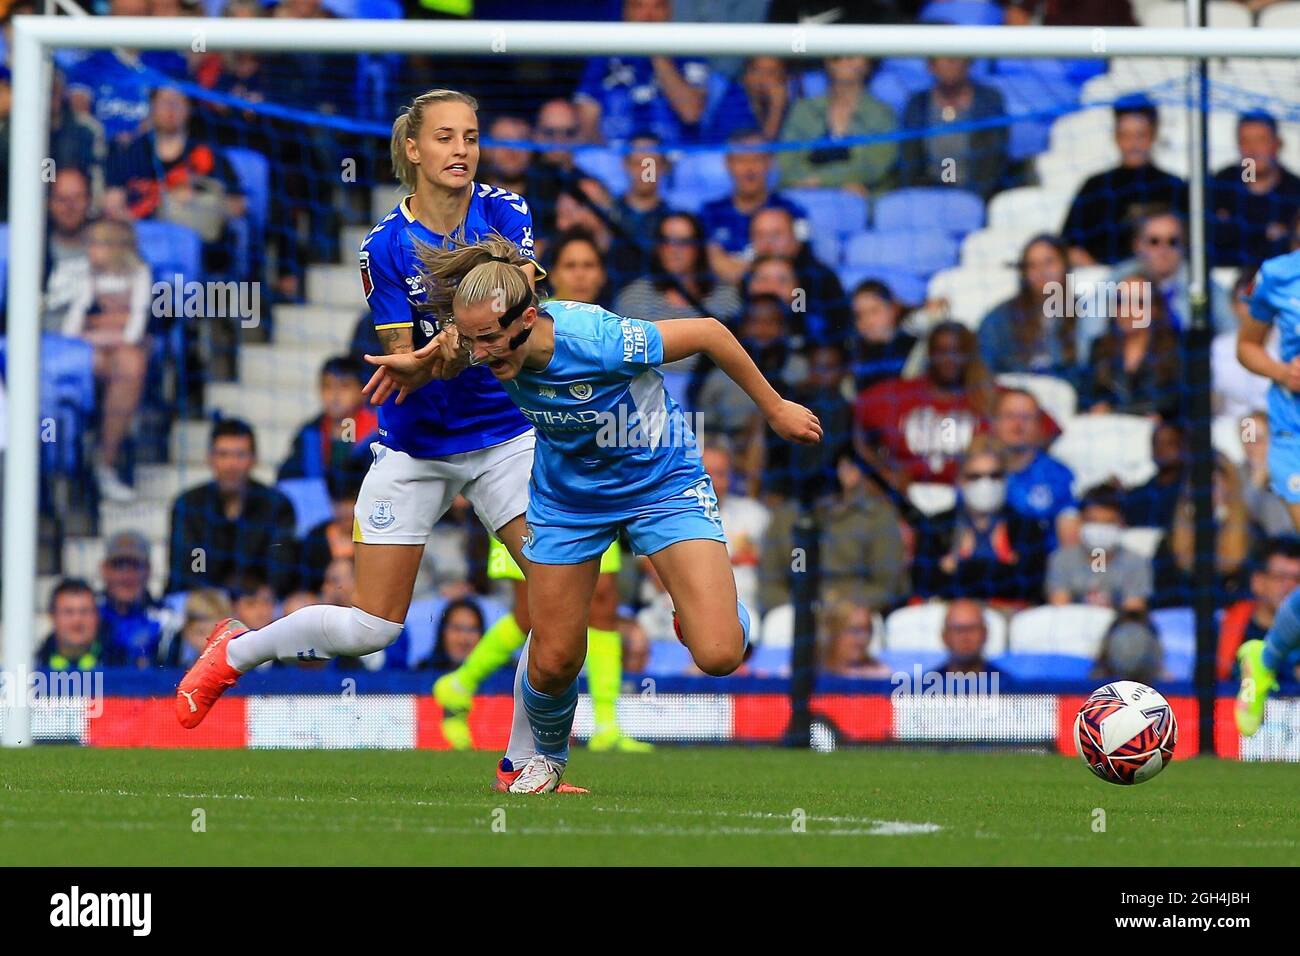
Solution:
<path fill-rule="evenodd" d="M 624 0 L 629 23 L 672 20 L 671 0 Z M 708 99 L 708 64 L 667 56 L 593 59 L 575 96 L 588 142 L 651 130 L 664 142 L 699 137 Z"/>

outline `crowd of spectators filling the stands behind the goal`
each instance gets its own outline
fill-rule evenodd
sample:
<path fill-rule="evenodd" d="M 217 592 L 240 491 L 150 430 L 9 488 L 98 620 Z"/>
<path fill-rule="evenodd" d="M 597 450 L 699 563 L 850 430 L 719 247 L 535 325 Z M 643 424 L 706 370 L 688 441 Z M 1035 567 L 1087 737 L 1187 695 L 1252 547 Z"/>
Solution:
<path fill-rule="evenodd" d="M 676 12 L 690 16 L 693 7 L 679 3 Z M 727 10 L 796 22 L 832 7 L 755 0 Z M 855 7 L 854 20 L 867 22 L 1135 22 L 1127 0 Z M 228 0 L 208 12 L 382 16 L 367 10 L 365 3 Z M 5 21 L 34 12 L 31 0 L 17 0 Z M 104 13 L 195 12 L 198 4 L 181 0 L 112 0 Z M 673 12 L 670 0 L 618 7 L 632 21 Z M 438 16 L 439 5 L 412 0 L 404 14 Z M 1251 109 L 1238 117 L 1240 159 L 1254 177 L 1243 182 L 1239 161 L 1212 183 L 1212 261 L 1239 274 L 1232 289 L 1213 290 L 1209 385 L 1187 375 L 1187 185 L 1153 159 L 1160 109 L 1144 95 L 1114 103 L 1117 165 L 1082 181 L 1063 220 L 1036 222 L 1036 234 L 1008 251 L 1019 287 L 974 326 L 954 317 L 953 302 L 926 294 L 926 280 L 956 265 L 953 238 L 932 265 L 922 241 L 932 233 L 885 248 L 887 208 L 922 216 L 927 203 L 948 202 L 937 195 L 961 194 L 983 221 L 991 199 L 1032 182 L 1044 142 L 1017 142 L 1015 91 L 1044 82 L 1045 70 L 1066 91 L 1062 104 L 1076 108 L 1083 81 L 1105 64 L 593 57 L 532 69 L 545 77 L 533 83 L 536 95 L 504 92 L 503 78 L 488 79 L 480 64 L 428 57 L 98 51 L 58 62 L 43 349 L 47 362 L 81 363 L 92 381 L 74 425 L 88 436 L 84 455 L 47 460 L 43 496 L 58 502 L 56 512 L 84 510 L 95 535 L 103 502 L 139 499 L 134 463 L 165 463 L 169 428 L 181 419 L 212 419 L 211 476 L 157 502 L 170 509 L 164 594 L 150 592 L 150 538 L 131 531 L 107 540 L 95 581 L 53 587 L 42 666 L 187 665 L 224 617 L 256 628 L 303 604 L 350 605 L 352 507 L 377 429 L 361 395 L 360 356 L 380 351 L 368 312 L 351 349 L 320 367 L 316 410 L 283 460 L 272 463 L 276 484 L 264 484 L 254 477 L 255 424 L 213 415 L 204 397 L 207 384 L 238 380 L 243 339 L 231 323 L 160 319 L 151 291 L 159 260 L 150 251 L 179 229 L 195 250 L 186 278 L 265 281 L 272 306 L 303 302 L 312 264 L 351 256 L 343 226 L 369 225 L 369 187 L 387 181 L 385 150 L 373 135 L 259 107 L 389 121 L 411 92 L 447 86 L 480 96 L 489 140 L 515 143 L 485 147 L 476 179 L 526 198 L 556 298 L 651 320 L 714 315 L 783 394 L 820 416 L 822 446 L 785 446 L 716 369 L 666 369 L 673 393 L 702 412 L 701 454 L 741 600 L 764 615 L 763 641 L 781 640 L 807 509 L 819 536 L 827 674 L 888 676 L 879 654 L 885 619 L 941 600 L 940 669 L 998 666 L 987 646 L 989 613 L 1005 622 L 1041 605 L 1092 605 L 1115 611 L 1096 669 L 1154 679 L 1165 650 L 1153 615 L 1192 602 L 1193 455 L 1213 454 L 1213 597 L 1223 609 L 1219 675 L 1231 676 L 1235 646 L 1266 630 L 1300 584 L 1300 544 L 1269 489 L 1268 382 L 1238 364 L 1234 347 L 1253 269 L 1300 247 L 1300 178 L 1279 160 L 1274 116 Z M 5 146 L 6 83 L 5 75 Z M 836 144 L 854 137 L 876 139 Z M 809 142 L 818 146 L 774 148 Z M 588 144 L 628 150 L 584 152 Z M 702 144 L 716 152 L 675 148 Z M 355 178 L 339 185 L 347 159 Z M 859 242 L 872 238 L 866 213 L 863 235 L 835 235 L 831 207 L 874 209 L 880 243 Z M 162 261 L 170 272 L 176 259 Z M 1110 307 L 1057 307 L 1053 290 L 1083 269 L 1101 269 L 1117 290 Z M 273 328 L 272 312 L 261 333 Z M 1192 397 L 1202 388 L 1213 389 L 1216 414 L 1243 429 L 1236 459 L 1193 447 Z M 1070 395 L 1065 415 L 1050 401 L 1062 392 Z M 1075 416 L 1147 423 L 1149 477 L 1126 485 L 1100 475 L 1082 484 L 1053 451 Z M 51 481 L 60 471 L 88 479 L 86 490 L 60 498 Z M 299 527 L 292 492 L 303 483 L 324 488 L 329 501 L 309 528 Z M 48 575 L 58 572 L 62 533 L 56 522 Z M 412 610 L 425 619 L 408 622 L 410 637 L 373 659 L 330 666 L 462 661 L 502 613 L 485 554 L 485 533 L 458 503 L 425 557 L 424 600 Z M 637 672 L 671 640 L 671 607 L 646 566 L 627 567 L 625 669 Z"/>

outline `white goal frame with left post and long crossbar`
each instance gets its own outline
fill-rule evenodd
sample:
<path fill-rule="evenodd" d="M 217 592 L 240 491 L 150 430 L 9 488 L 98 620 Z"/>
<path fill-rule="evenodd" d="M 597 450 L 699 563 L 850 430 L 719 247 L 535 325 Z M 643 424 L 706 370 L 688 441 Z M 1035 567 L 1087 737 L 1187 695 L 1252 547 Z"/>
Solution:
<path fill-rule="evenodd" d="M 1197 25 L 1200 5 L 1188 4 Z M 1297 57 L 1300 30 L 1149 27 L 801 26 L 524 21 L 291 21 L 153 17 L 16 17 L 9 147 L 8 453 L 4 481 L 4 732 L 31 743 L 26 693 L 36 593 L 40 276 L 46 206 L 42 166 L 49 133 L 51 52 L 57 48 L 403 52 L 464 56 L 771 55 L 870 57 Z M 1196 124 L 1192 125 L 1196 129 Z M 1191 138 L 1193 228 L 1204 166 Z M 1204 242 L 1193 237 L 1195 254 Z M 1193 276 L 1200 274 L 1193 269 Z"/>

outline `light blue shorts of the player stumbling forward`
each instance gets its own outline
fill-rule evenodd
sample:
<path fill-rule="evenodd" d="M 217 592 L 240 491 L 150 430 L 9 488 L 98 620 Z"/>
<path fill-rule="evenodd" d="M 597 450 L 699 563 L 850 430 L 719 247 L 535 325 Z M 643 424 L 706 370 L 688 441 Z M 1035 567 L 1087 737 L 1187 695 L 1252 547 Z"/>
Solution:
<path fill-rule="evenodd" d="M 538 564 L 581 564 L 599 558 L 620 529 L 637 554 L 654 554 L 679 541 L 727 544 L 718 494 L 705 476 L 662 501 L 586 514 L 562 510 L 534 488 L 528 497 L 524 555 Z"/>

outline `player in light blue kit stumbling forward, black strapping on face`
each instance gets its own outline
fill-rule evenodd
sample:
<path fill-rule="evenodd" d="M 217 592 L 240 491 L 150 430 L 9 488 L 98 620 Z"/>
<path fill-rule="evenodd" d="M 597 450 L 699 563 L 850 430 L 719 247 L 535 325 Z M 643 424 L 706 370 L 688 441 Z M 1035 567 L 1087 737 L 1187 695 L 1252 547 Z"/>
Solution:
<path fill-rule="evenodd" d="M 749 641 L 718 497 L 656 367 L 706 354 L 783 438 L 815 444 L 822 425 L 772 389 L 716 319 L 647 323 L 563 300 L 540 310 L 521 268 L 528 259 L 500 238 L 419 255 L 426 307 L 454 315 L 460 346 L 537 429 L 524 542 L 533 631 L 521 687 L 537 753 L 510 790 L 542 793 L 559 786 L 568 761 L 588 607 L 601 554 L 620 529 L 663 580 L 702 671 L 731 674 Z M 386 369 L 384 394 L 410 393 L 430 375 L 419 355 L 368 359 Z"/>

